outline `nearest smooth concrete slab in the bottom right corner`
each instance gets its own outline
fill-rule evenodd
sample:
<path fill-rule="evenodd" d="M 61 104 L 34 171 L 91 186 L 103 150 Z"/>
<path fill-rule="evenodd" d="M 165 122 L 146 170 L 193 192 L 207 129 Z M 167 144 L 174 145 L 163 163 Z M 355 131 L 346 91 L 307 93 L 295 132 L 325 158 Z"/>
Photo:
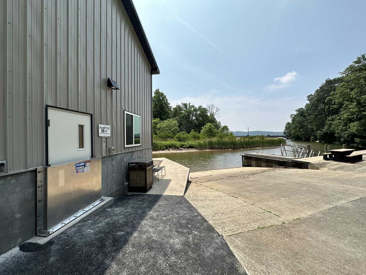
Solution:
<path fill-rule="evenodd" d="M 250 275 L 366 274 L 366 198 L 225 237 Z"/>

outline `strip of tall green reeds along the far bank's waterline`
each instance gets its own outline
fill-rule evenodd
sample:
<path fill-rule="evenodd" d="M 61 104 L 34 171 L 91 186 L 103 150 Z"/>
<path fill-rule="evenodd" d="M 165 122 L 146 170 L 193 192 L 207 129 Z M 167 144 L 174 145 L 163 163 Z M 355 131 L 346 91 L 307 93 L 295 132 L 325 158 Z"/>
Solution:
<path fill-rule="evenodd" d="M 247 149 L 247 148 L 263 148 L 278 147 L 283 143 L 283 139 L 271 138 L 241 138 L 232 140 L 208 139 L 190 142 L 153 141 L 153 151 L 179 149 L 179 148 L 195 148 L 198 150 L 223 150 L 223 149 Z"/>

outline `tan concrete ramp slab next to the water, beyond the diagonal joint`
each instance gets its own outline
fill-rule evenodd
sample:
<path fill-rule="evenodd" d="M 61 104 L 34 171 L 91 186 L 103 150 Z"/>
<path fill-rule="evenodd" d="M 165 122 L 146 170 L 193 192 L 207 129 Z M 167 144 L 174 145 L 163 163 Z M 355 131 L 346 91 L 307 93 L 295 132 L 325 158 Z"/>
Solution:
<path fill-rule="evenodd" d="M 186 197 L 195 206 L 191 197 L 198 183 L 291 221 L 366 196 L 362 173 L 248 168 L 191 173 Z"/>

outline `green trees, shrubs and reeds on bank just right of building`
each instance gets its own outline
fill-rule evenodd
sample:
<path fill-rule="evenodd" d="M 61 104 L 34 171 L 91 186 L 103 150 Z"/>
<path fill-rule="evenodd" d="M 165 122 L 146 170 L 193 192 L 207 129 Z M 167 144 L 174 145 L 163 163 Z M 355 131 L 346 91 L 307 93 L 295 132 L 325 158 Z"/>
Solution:
<path fill-rule="evenodd" d="M 220 108 L 182 103 L 172 108 L 159 89 L 153 96 L 153 151 L 169 149 L 224 150 L 277 147 L 283 139 L 264 136 L 236 138 L 217 120 Z"/>

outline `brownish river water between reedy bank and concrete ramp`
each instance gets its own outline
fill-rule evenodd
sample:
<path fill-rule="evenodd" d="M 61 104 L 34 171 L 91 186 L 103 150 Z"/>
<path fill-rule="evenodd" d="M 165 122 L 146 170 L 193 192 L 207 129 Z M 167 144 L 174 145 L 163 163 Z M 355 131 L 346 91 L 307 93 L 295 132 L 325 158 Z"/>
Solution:
<path fill-rule="evenodd" d="M 287 144 L 301 146 L 310 145 L 311 148 L 324 150 L 325 143 L 304 142 L 298 140 L 286 140 Z M 342 148 L 341 144 L 329 144 L 332 149 Z M 352 147 L 347 147 L 352 148 Z M 241 150 L 213 150 L 213 151 L 193 151 L 187 153 L 157 153 L 153 158 L 168 158 L 191 169 L 191 172 L 200 170 L 213 170 L 242 166 L 243 153 L 264 153 L 270 155 L 281 155 L 280 147 L 276 148 L 257 148 Z"/>

